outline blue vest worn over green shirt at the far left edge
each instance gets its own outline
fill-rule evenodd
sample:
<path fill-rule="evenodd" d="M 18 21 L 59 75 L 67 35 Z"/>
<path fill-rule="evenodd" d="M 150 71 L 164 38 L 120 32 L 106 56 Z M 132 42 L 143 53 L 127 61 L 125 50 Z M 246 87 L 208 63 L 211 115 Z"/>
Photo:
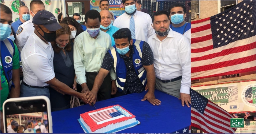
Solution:
<path fill-rule="evenodd" d="M 14 86 L 12 82 L 12 57 L 15 54 L 14 43 L 11 39 L 1 40 L 1 64 L 3 67 L 5 78 L 8 82 L 9 90 Z"/>

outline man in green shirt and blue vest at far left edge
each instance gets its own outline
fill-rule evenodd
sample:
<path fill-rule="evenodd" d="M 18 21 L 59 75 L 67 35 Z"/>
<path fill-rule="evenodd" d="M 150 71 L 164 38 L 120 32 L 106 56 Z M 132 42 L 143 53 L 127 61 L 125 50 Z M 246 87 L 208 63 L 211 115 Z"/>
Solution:
<path fill-rule="evenodd" d="M 12 11 L 1 4 L 1 131 L 3 127 L 3 103 L 9 98 L 17 98 L 20 94 L 19 51 L 15 43 L 7 37 L 11 34 Z"/>

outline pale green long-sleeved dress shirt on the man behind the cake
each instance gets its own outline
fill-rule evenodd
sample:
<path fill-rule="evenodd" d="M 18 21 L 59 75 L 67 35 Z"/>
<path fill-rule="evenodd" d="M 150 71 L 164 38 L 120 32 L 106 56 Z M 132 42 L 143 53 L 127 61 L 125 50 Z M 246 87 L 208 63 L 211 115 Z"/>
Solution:
<path fill-rule="evenodd" d="M 77 83 L 86 83 L 86 72 L 99 72 L 103 58 L 111 48 L 111 38 L 108 33 L 99 31 L 96 39 L 86 31 L 80 33 L 74 41 L 74 67 Z M 111 79 L 116 79 L 112 68 Z"/>

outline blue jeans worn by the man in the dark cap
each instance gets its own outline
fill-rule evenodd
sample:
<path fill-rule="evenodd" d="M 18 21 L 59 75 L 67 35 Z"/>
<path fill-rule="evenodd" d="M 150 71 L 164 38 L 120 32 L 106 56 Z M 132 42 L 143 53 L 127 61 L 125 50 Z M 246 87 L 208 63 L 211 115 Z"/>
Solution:
<path fill-rule="evenodd" d="M 30 97 L 30 96 L 47 96 L 50 98 L 49 88 L 32 88 L 27 87 L 23 83 L 21 84 L 21 94 L 19 97 Z"/>

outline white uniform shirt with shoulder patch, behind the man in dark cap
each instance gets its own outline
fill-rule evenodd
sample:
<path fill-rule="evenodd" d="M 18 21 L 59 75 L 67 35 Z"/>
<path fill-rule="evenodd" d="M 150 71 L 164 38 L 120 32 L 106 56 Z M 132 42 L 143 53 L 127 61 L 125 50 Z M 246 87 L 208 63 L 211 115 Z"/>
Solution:
<path fill-rule="evenodd" d="M 22 25 L 18 27 L 16 32 L 16 39 L 19 41 L 19 45 L 17 46 L 19 51 L 21 52 L 22 48 L 25 46 L 27 39 L 29 36 L 34 33 L 34 24 L 32 23 L 33 17 L 24 22 Z"/>

